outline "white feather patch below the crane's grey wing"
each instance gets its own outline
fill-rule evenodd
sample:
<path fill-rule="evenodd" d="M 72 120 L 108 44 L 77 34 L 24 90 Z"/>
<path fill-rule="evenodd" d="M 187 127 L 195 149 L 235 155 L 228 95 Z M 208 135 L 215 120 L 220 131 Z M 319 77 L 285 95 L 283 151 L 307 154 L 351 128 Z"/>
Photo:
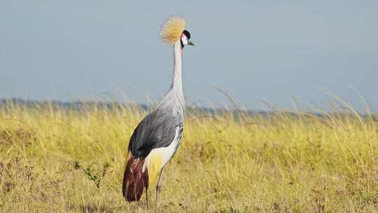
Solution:
<path fill-rule="evenodd" d="M 177 146 L 179 146 L 180 143 L 180 139 L 180 127 L 177 126 L 176 133 L 174 135 L 174 140 L 171 144 L 169 144 L 169 146 L 153 149 L 148 154 L 146 160 L 144 160 L 143 172 L 146 170 L 146 165 L 148 165 L 148 163 L 150 162 L 151 156 L 155 154 L 159 154 L 160 156 L 162 156 L 162 167 L 164 167 L 176 152 Z"/>

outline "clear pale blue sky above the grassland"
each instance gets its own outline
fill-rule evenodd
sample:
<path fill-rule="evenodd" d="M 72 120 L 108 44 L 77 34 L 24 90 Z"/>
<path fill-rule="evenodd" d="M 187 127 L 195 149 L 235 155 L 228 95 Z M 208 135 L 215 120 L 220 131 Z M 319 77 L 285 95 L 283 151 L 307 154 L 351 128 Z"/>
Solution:
<path fill-rule="evenodd" d="M 159 39 L 183 15 L 188 102 L 322 107 L 335 92 L 378 111 L 378 1 L 0 2 L 0 97 L 158 101 L 172 75 Z M 148 98 L 147 98 L 148 97 Z"/>

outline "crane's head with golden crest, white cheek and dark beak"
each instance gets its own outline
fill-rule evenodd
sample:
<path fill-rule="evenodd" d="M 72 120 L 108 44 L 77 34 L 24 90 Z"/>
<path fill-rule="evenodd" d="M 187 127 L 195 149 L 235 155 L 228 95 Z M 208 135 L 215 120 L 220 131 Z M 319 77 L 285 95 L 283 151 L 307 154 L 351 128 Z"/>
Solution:
<path fill-rule="evenodd" d="M 185 29 L 186 20 L 180 16 L 171 16 L 163 24 L 160 29 L 160 37 L 164 43 L 174 45 L 180 41 L 181 48 L 186 45 L 194 46 L 190 41 L 190 32 Z"/>

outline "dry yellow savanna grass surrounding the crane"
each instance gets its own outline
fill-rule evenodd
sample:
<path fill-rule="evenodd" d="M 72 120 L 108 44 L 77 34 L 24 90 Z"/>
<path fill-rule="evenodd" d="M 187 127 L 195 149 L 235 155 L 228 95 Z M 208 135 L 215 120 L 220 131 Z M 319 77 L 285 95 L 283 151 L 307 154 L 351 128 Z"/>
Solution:
<path fill-rule="evenodd" d="M 121 192 L 127 144 L 145 115 L 0 107 L 0 212 L 147 212 L 145 194 L 138 205 Z M 377 118 L 187 113 L 158 212 L 378 212 Z"/>

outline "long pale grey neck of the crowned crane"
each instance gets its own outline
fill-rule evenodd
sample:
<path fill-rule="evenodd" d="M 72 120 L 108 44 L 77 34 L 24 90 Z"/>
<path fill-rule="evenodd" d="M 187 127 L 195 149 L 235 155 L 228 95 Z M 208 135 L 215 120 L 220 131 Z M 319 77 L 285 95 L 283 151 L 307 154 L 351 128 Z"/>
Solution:
<path fill-rule="evenodd" d="M 183 109 L 185 101 L 183 98 L 183 79 L 182 62 L 181 62 L 181 41 L 174 43 L 174 73 L 172 77 L 171 87 L 167 95 L 158 105 L 158 109 L 171 111 L 173 114 L 179 114 L 183 119 Z"/>

